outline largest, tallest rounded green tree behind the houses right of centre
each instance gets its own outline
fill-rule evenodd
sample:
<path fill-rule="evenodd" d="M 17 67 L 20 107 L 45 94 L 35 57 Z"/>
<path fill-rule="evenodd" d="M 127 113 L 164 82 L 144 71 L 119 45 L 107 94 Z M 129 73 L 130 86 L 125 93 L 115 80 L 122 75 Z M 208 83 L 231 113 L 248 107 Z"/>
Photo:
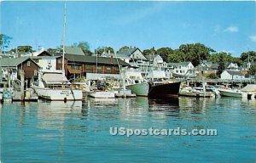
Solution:
<path fill-rule="evenodd" d="M 211 53 L 215 52 L 201 43 L 182 44 L 179 50 L 185 54 L 184 60 L 191 61 L 194 66 L 199 65 L 201 60 L 209 59 Z"/>

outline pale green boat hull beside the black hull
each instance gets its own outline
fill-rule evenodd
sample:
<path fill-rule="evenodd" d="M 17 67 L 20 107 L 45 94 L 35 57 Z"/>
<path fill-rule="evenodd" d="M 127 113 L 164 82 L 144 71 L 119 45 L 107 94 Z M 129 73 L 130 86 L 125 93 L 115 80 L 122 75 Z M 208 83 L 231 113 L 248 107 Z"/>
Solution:
<path fill-rule="evenodd" d="M 135 93 L 137 96 L 148 96 L 148 82 L 127 85 L 126 88 L 131 89 L 131 93 Z"/>

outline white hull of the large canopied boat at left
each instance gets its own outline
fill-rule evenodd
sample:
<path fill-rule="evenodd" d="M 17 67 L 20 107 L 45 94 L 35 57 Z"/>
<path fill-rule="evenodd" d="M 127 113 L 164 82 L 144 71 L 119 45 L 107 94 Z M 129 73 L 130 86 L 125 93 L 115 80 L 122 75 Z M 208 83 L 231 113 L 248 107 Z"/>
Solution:
<path fill-rule="evenodd" d="M 33 86 L 33 89 L 38 94 L 39 98 L 44 98 L 52 101 L 75 101 L 82 100 L 83 93 L 78 89 L 49 89 Z"/>

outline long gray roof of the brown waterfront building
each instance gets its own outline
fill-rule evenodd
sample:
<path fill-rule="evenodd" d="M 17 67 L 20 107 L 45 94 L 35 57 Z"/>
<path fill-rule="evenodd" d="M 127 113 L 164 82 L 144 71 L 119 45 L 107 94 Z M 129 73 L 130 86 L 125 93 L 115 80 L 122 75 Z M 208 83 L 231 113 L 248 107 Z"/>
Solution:
<path fill-rule="evenodd" d="M 88 55 L 81 56 L 81 55 L 65 54 L 65 58 L 67 58 L 67 60 L 70 62 L 96 64 L 96 61 L 97 61 L 98 64 L 102 64 L 102 65 L 118 65 L 118 62 L 119 62 L 119 65 L 131 66 L 121 59 L 113 59 L 113 64 L 112 64 L 111 58 L 106 58 L 106 57 L 93 57 Z"/>

